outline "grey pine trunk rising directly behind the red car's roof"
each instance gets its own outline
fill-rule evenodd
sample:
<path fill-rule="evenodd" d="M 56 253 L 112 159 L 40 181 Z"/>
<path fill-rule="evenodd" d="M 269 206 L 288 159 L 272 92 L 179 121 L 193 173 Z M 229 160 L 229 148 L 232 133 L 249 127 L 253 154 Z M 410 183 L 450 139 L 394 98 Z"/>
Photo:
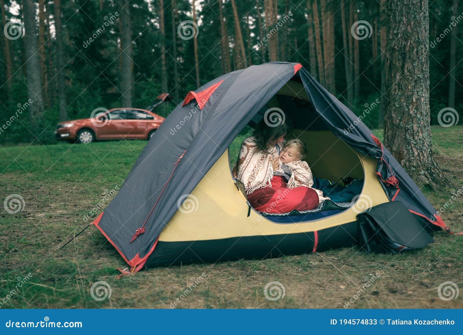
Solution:
<path fill-rule="evenodd" d="M 122 107 L 132 107 L 132 39 L 130 27 L 130 0 L 121 1 L 121 25 L 122 25 Z"/>

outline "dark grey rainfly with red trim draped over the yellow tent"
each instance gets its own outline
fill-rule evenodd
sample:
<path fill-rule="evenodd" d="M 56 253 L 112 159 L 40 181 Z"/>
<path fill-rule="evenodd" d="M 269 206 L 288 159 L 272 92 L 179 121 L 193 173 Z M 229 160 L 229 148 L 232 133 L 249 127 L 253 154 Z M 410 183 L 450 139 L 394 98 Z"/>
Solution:
<path fill-rule="evenodd" d="M 299 63 L 272 62 L 233 71 L 189 92 L 182 105 L 175 107 L 149 140 L 118 194 L 94 221 L 132 267 L 132 272 L 143 266 L 182 260 L 179 256 L 182 252 L 178 250 L 175 257 L 166 257 L 172 250 L 169 247 L 161 250 L 157 240 L 178 210 L 179 199 L 195 189 L 244 126 L 262 117 L 266 104 L 290 81 L 302 85 L 310 101 L 308 107 L 300 107 L 306 108 L 304 110 L 294 107 L 288 108 L 288 113 L 285 111 L 294 124 L 301 129 L 329 130 L 353 150 L 377 159 L 376 174 L 388 199 L 403 202 L 427 228 L 435 225 L 448 230 L 400 164 L 354 113 Z M 282 95 L 279 99 L 281 103 L 287 101 L 286 106 L 292 106 L 288 96 Z M 230 183 L 233 183 L 231 176 Z M 356 234 L 352 229 L 352 234 Z M 318 238 L 316 233 L 311 233 L 314 239 Z M 268 239 L 274 247 L 281 242 L 275 236 L 280 235 Z M 255 240 L 249 241 L 255 243 Z M 201 243 L 198 252 L 204 252 L 206 259 L 214 261 L 211 255 L 216 253 L 217 244 Z M 181 244 L 181 247 L 186 250 L 189 245 L 191 243 Z M 243 245 L 241 248 L 246 249 Z M 307 252 L 304 248 L 289 249 L 282 254 Z M 258 255 L 248 255 L 243 250 L 235 255 L 228 251 L 215 260 Z"/>

